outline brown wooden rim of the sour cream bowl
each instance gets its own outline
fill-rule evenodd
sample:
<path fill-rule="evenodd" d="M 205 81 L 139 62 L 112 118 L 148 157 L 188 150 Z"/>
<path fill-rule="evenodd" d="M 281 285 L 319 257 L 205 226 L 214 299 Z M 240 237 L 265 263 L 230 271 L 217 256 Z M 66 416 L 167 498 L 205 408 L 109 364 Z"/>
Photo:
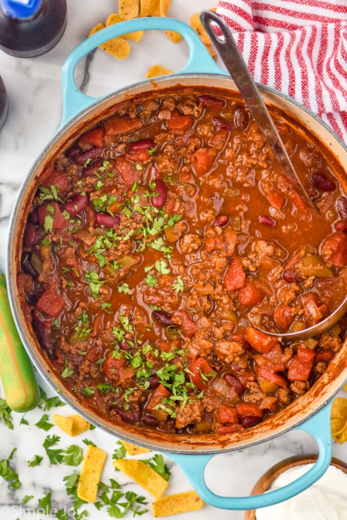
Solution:
<path fill-rule="evenodd" d="M 255 483 L 250 495 L 262 495 L 262 493 L 267 491 L 279 475 L 289 470 L 291 467 L 313 464 L 316 462 L 317 458 L 317 454 L 307 453 L 304 455 L 294 455 L 277 462 L 260 477 L 258 482 Z M 342 470 L 343 473 L 347 474 L 346 462 L 337 459 L 336 457 L 332 457 L 330 465 L 337 467 L 339 470 Z M 245 520 L 255 520 L 255 509 L 245 511 Z"/>

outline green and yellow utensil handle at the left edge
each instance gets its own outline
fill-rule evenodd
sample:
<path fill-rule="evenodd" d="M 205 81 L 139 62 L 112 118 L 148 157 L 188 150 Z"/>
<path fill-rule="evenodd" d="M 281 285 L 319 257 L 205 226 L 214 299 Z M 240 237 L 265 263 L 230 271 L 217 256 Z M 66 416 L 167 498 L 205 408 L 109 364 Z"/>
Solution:
<path fill-rule="evenodd" d="M 0 378 L 8 406 L 27 412 L 38 402 L 38 387 L 12 318 L 4 275 L 0 274 Z"/>

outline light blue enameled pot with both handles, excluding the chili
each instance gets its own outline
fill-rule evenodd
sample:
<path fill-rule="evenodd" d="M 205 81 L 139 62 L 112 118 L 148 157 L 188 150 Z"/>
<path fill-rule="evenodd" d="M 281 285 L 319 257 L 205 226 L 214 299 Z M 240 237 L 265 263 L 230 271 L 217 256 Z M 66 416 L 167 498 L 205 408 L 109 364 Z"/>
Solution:
<path fill-rule="evenodd" d="M 162 76 L 123 88 L 104 98 L 91 98 L 82 94 L 73 79 L 76 64 L 98 45 L 124 33 L 161 29 L 181 33 L 189 47 L 189 59 L 179 74 Z M 21 244 L 26 216 L 37 186 L 38 175 L 49 161 L 65 150 L 69 144 L 87 128 L 112 113 L 114 105 L 128 98 L 143 98 L 146 93 L 159 93 L 165 88 L 183 85 L 194 89 L 198 86 L 228 89 L 237 92 L 234 82 L 220 69 L 208 54 L 197 34 L 185 23 L 169 18 L 142 18 L 129 20 L 108 27 L 76 47 L 68 56 L 62 69 L 63 116 L 55 137 L 48 143 L 31 168 L 18 194 L 12 211 L 9 227 L 7 282 L 12 314 L 14 315 L 21 340 L 34 366 L 50 386 L 78 413 L 91 423 L 119 438 L 134 444 L 170 453 L 183 469 L 200 497 L 209 504 L 223 509 L 256 509 L 286 500 L 311 486 L 326 471 L 331 460 L 330 405 L 332 397 L 343 385 L 347 375 L 345 365 L 346 345 L 330 362 L 321 378 L 307 394 L 295 400 L 289 407 L 263 423 L 233 435 L 177 435 L 137 429 L 131 425 L 110 424 L 95 411 L 86 408 L 75 395 L 68 392 L 61 380 L 44 357 L 33 333 L 31 323 L 24 316 L 18 296 L 16 275 L 20 268 Z M 339 163 L 347 164 L 347 149 L 341 139 L 322 120 L 272 88 L 261 86 L 264 100 L 289 114 L 294 120 L 309 129 L 319 141 L 325 143 Z M 217 453 L 234 451 L 272 439 L 284 432 L 297 428 L 315 437 L 319 457 L 315 466 L 292 484 L 263 496 L 220 497 L 212 493 L 204 482 L 204 468 Z"/>

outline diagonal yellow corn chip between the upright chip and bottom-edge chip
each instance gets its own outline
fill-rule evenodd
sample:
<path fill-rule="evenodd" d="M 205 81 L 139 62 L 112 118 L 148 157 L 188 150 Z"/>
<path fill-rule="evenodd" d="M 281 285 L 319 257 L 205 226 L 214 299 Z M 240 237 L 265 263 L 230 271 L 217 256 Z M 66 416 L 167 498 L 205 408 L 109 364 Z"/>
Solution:
<path fill-rule="evenodd" d="M 140 460 L 119 459 L 113 461 L 113 466 L 135 480 L 156 499 L 162 497 L 168 487 L 168 483 L 159 473 Z"/>

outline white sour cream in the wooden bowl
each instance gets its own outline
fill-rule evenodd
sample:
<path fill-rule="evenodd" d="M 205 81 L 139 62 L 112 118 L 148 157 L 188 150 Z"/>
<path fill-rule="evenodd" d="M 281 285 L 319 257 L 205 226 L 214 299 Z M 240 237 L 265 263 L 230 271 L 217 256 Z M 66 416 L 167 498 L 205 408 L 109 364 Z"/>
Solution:
<path fill-rule="evenodd" d="M 269 491 L 290 484 L 312 466 L 290 468 L 274 480 Z M 329 466 L 309 489 L 280 504 L 257 509 L 255 517 L 256 520 L 347 520 L 347 474 Z"/>

